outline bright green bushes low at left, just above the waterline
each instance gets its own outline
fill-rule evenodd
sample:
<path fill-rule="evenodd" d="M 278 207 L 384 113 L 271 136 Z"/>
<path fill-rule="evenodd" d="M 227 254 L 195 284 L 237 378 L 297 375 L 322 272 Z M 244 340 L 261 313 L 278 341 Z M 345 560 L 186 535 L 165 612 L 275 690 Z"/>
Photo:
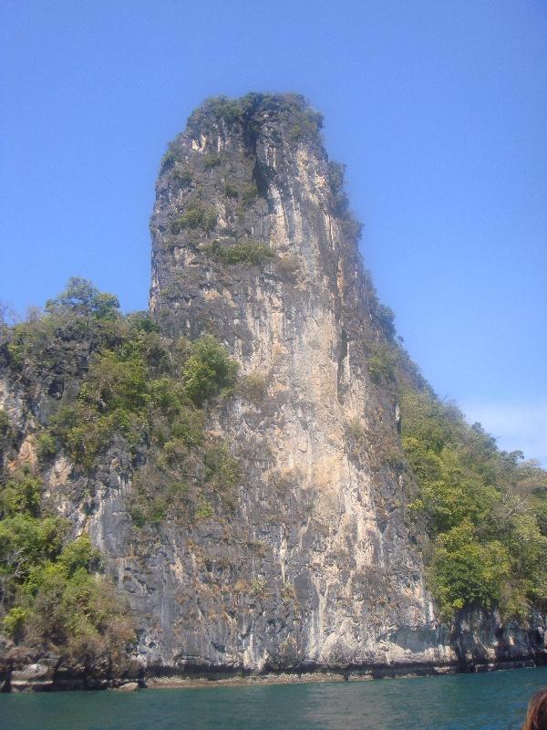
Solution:
<path fill-rule="evenodd" d="M 25 469 L 1 486 L 2 628 L 16 642 L 111 666 L 133 639 L 131 621 L 88 537 L 68 540 L 67 521 L 42 512 L 41 488 Z"/>

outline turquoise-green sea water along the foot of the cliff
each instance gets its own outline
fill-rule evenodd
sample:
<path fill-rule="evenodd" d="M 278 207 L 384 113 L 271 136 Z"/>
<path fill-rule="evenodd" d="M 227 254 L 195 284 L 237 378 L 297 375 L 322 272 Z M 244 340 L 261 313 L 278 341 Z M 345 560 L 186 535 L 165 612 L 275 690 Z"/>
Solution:
<path fill-rule="evenodd" d="M 2 730 L 517 730 L 547 667 L 195 690 L 0 695 Z"/>

